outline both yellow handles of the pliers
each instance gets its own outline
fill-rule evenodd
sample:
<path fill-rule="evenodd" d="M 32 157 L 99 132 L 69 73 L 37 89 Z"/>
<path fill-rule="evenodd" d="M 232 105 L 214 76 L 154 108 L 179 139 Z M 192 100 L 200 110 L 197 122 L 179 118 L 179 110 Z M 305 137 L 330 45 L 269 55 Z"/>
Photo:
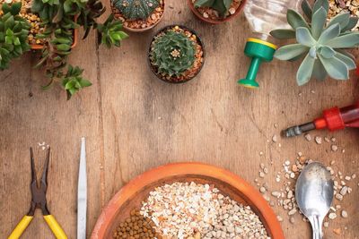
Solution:
<path fill-rule="evenodd" d="M 11 235 L 9 235 L 8 239 L 19 239 L 20 236 L 22 236 L 23 231 L 25 231 L 26 227 L 28 227 L 31 223 L 32 218 L 32 216 L 24 216 L 15 229 L 13 229 L 13 232 Z M 48 226 L 57 239 L 67 239 L 64 230 L 57 223 L 57 220 L 54 218 L 54 216 L 46 215 L 44 216 L 44 219 L 48 223 Z"/>

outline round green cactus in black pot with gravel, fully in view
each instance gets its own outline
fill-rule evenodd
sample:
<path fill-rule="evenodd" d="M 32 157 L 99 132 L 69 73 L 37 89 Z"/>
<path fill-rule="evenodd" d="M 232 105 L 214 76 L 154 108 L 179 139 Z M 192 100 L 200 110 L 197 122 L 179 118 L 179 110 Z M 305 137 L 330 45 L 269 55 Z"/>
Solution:
<path fill-rule="evenodd" d="M 205 49 L 194 30 L 171 25 L 154 35 L 148 54 L 152 72 L 162 81 L 193 79 L 205 63 Z"/>

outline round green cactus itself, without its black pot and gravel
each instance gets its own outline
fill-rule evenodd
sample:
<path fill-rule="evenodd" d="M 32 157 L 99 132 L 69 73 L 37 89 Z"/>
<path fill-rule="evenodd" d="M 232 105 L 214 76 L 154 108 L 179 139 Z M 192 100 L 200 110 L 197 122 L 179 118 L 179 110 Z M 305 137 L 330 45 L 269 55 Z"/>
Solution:
<path fill-rule="evenodd" d="M 165 30 L 151 44 L 150 60 L 158 73 L 180 76 L 195 62 L 195 45 L 184 33 Z"/>

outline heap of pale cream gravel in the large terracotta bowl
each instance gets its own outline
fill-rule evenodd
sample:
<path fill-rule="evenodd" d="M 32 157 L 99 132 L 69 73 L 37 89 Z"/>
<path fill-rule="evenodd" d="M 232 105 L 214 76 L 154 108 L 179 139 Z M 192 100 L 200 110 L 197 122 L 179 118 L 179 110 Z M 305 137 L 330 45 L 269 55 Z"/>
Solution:
<path fill-rule="evenodd" d="M 162 238 L 269 238 L 250 206 L 224 196 L 214 185 L 165 184 L 149 193 L 140 212 L 153 220 Z"/>

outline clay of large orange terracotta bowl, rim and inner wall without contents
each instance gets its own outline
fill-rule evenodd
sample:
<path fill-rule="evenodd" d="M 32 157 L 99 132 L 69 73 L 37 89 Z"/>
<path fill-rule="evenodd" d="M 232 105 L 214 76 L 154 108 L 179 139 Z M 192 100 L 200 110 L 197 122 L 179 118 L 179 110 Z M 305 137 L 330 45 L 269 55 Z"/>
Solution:
<path fill-rule="evenodd" d="M 91 238 L 112 238 L 112 233 L 119 222 L 129 216 L 131 209 L 138 208 L 153 188 L 174 182 L 192 181 L 200 184 L 215 184 L 223 195 L 228 195 L 244 205 L 250 205 L 266 226 L 271 238 L 285 238 L 275 213 L 255 188 L 227 170 L 201 163 L 160 166 L 137 176 L 122 187 L 103 209 Z"/>

